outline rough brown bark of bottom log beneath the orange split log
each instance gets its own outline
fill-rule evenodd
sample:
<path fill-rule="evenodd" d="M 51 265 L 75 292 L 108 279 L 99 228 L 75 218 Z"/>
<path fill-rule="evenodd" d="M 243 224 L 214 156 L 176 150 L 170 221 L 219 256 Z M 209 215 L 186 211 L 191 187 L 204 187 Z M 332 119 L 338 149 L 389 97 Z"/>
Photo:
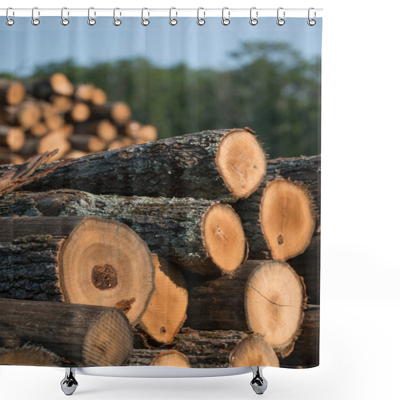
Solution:
<path fill-rule="evenodd" d="M 187 356 L 192 368 L 227 368 L 229 354 L 246 332 L 233 330 L 201 331 L 182 328 L 173 342 L 159 348 L 148 348 L 139 334 L 134 334 L 128 365 L 150 365 L 155 355 L 173 348 Z"/>

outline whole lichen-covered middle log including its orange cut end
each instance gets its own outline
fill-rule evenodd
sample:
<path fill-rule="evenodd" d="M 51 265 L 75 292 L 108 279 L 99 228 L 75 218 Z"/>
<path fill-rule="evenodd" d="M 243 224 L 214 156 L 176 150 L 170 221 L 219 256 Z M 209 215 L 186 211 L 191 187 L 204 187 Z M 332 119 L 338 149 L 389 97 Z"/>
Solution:
<path fill-rule="evenodd" d="M 131 227 L 152 252 L 201 274 L 232 273 L 246 256 L 240 219 L 226 204 L 76 190 L 4 195 L 1 215 L 96 215 Z"/>

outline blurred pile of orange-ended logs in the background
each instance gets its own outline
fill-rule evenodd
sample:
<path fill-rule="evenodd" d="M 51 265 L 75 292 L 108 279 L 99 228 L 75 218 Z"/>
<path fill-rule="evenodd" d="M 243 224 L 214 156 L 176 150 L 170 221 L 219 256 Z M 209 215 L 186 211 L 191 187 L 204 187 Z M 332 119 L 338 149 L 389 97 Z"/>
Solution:
<path fill-rule="evenodd" d="M 62 73 L 26 81 L 0 79 L 0 163 L 21 164 L 58 148 L 52 160 L 153 141 L 153 125 L 131 119 L 129 106 L 107 101 L 92 84 Z"/>

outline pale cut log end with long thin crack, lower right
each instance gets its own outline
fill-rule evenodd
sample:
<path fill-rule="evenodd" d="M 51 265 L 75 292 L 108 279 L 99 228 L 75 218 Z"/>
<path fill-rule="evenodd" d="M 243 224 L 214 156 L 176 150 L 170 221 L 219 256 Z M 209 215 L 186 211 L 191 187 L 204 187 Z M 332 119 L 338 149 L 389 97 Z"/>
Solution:
<path fill-rule="evenodd" d="M 266 260 L 247 280 L 245 314 L 248 328 L 281 356 L 293 349 L 305 307 L 304 283 L 285 262 Z"/>

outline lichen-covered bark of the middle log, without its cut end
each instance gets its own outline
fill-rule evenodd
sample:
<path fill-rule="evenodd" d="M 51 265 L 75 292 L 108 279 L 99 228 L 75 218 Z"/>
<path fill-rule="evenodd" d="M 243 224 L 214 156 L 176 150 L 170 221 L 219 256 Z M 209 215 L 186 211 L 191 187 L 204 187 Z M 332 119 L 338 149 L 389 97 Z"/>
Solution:
<path fill-rule="evenodd" d="M 202 235 L 204 213 L 213 204 L 193 198 L 93 195 L 76 190 L 12 192 L 1 198 L 0 215 L 95 215 L 132 228 L 160 256 L 199 273 L 218 268 Z"/>

